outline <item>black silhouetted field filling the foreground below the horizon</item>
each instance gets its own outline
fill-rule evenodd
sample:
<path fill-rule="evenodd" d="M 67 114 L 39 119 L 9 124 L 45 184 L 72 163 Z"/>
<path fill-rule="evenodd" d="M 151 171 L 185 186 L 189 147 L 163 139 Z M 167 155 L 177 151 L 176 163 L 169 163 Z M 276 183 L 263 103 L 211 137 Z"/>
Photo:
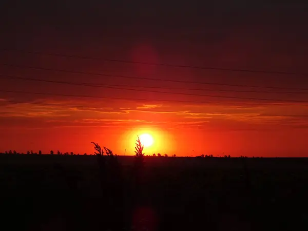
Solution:
<path fill-rule="evenodd" d="M 118 158 L 1 155 L 1 230 L 308 230 L 307 159 Z"/>

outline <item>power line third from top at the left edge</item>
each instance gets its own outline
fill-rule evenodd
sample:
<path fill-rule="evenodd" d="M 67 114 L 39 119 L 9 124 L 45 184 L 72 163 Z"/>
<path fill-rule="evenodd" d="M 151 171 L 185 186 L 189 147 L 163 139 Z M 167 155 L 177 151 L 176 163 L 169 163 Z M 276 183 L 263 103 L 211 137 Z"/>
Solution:
<path fill-rule="evenodd" d="M 264 101 L 308 103 L 308 101 L 303 101 L 303 100 L 280 100 L 280 99 L 264 99 L 264 98 L 230 97 L 230 96 L 224 96 L 224 95 L 210 95 L 210 94 L 207 95 L 207 94 L 192 94 L 192 93 L 167 92 L 167 91 L 140 90 L 140 89 L 130 89 L 130 88 L 110 87 L 110 86 L 100 86 L 100 85 L 87 85 L 87 84 L 80 84 L 80 83 L 66 82 L 66 81 L 39 80 L 39 79 L 22 78 L 22 77 L 17 77 L 17 76 L 8 76 L 8 75 L 0 75 L 0 76 L 7 77 L 7 78 L 10 78 L 10 79 L 22 79 L 22 80 L 40 81 L 40 82 L 47 82 L 47 83 L 60 83 L 60 84 L 69 84 L 69 85 L 78 85 L 78 86 L 111 88 L 111 89 L 132 90 L 132 91 L 144 91 L 144 92 L 153 92 L 153 93 L 191 95 L 191 96 L 198 96 L 198 97 L 212 97 L 212 98 L 241 99 L 241 100 L 264 100 Z"/>

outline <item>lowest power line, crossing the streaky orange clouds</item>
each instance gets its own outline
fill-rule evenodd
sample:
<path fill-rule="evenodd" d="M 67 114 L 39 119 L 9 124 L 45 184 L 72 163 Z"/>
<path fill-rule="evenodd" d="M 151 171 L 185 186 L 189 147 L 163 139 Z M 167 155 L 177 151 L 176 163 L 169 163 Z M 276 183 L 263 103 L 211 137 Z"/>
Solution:
<path fill-rule="evenodd" d="M 45 93 L 44 93 L 45 94 Z M 12 100 L 2 100 L 0 103 L 21 103 L 21 104 L 34 104 L 34 105 L 44 105 L 44 106 L 59 106 L 59 107 L 80 107 L 80 108 L 89 108 L 89 109 L 104 109 L 100 107 L 89 107 L 89 106 L 82 106 L 82 105 L 61 105 L 61 104 L 47 104 L 47 103 L 38 103 L 38 102 L 24 102 L 24 101 L 12 101 Z M 139 110 L 139 109 L 122 109 L 123 111 L 141 111 L 141 112 L 165 112 L 171 113 L 174 111 L 157 111 L 157 110 Z M 198 113 L 198 114 L 206 114 L 206 115 L 213 115 L 213 113 L 206 113 L 206 112 L 196 112 L 196 111 L 181 111 L 183 113 Z M 214 115 L 228 115 L 227 113 L 215 113 Z M 240 115 L 251 115 L 251 116 L 267 116 L 267 117 L 308 117 L 308 115 L 291 115 L 291 114 L 240 114 Z"/>

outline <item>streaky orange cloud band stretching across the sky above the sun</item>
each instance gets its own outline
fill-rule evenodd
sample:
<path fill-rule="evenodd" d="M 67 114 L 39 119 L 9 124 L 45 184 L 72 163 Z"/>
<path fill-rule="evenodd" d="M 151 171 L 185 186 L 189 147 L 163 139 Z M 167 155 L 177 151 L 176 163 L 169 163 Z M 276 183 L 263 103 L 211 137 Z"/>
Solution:
<path fill-rule="evenodd" d="M 0 99 L 1 101 L 1 99 Z M 38 102 L 38 101 L 35 101 Z M 138 105 L 134 102 L 132 105 L 121 104 L 101 105 L 98 102 L 87 101 L 56 101 L 41 100 L 41 104 L 31 103 L 1 103 L 0 117 L 16 118 L 21 121 L 22 118 L 29 118 L 32 126 L 159 126 L 164 127 L 208 127 L 208 126 L 226 126 L 234 124 L 238 126 L 243 124 L 271 124 L 271 125 L 290 125 L 305 126 L 308 118 L 303 117 L 285 117 L 283 114 L 290 111 L 287 105 L 269 106 L 267 105 L 168 105 L 168 110 L 155 110 L 155 108 L 165 107 L 160 104 Z M 52 105 L 48 105 L 52 103 Z M 64 104 L 84 104 L 85 107 L 64 106 Z M 110 102 L 108 102 L 110 103 Z M 94 105 L 94 106 L 93 106 Z M 102 107 L 97 107 L 102 106 Z M 292 107 L 294 114 L 304 114 L 302 106 Z M 40 120 L 38 120 L 40 118 Z M 10 121 L 10 124 L 16 124 L 16 119 Z M 40 125 L 37 122 L 40 121 Z M 209 123 L 210 121 L 210 123 Z M 34 124 L 34 122 L 36 124 Z M 45 123 L 45 124 L 44 124 Z M 207 124 L 207 125 L 205 125 Z M 222 125 L 223 124 L 223 125 Z M 5 123 L 4 123 L 5 125 Z M 22 126 L 22 125 L 21 125 Z M 260 126 L 259 126 L 260 127 Z M 261 128 L 260 128 L 261 129 Z"/>

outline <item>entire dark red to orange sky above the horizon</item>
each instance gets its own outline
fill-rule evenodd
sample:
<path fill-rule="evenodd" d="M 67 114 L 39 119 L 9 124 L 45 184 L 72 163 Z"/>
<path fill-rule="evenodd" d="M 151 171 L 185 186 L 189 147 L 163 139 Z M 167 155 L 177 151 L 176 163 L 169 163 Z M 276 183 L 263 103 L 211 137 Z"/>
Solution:
<path fill-rule="evenodd" d="M 304 1 L 284 4 L 267 1 L 102 2 L 105 1 L 2 1 L 0 63 L 139 78 L 308 89 L 308 32 L 305 29 L 308 28 L 308 4 Z M 298 74 L 217 71 L 104 59 Z M 150 81 L 3 65 L 0 74 L 144 87 L 133 91 L 1 78 L 0 151 L 32 148 L 45 152 L 50 149 L 90 152 L 89 143 L 95 141 L 119 154 L 125 149 L 132 154 L 136 134 L 146 131 L 152 133 L 156 141 L 156 145 L 146 150 L 147 154 L 167 152 L 186 156 L 225 152 L 233 156 L 307 156 L 308 153 L 305 139 L 308 103 L 304 102 L 308 102 L 308 90 Z M 245 90 L 257 92 L 239 92 Z M 129 98 L 148 100 L 125 100 Z"/>

